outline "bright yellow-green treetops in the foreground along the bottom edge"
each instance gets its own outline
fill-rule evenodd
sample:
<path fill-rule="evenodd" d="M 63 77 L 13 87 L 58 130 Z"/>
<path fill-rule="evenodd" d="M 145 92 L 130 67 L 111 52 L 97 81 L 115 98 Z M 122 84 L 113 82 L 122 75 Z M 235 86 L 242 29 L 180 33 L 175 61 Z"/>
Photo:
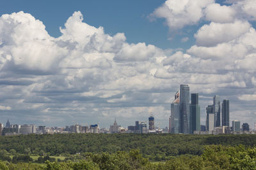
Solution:
<path fill-rule="evenodd" d="M 150 162 L 138 150 L 116 153 L 82 153 L 73 155 L 72 161 L 45 164 L 12 164 L 0 161 L 0 169 L 256 169 L 256 148 L 239 146 L 208 145 L 202 155 L 181 155 L 166 162 Z"/>

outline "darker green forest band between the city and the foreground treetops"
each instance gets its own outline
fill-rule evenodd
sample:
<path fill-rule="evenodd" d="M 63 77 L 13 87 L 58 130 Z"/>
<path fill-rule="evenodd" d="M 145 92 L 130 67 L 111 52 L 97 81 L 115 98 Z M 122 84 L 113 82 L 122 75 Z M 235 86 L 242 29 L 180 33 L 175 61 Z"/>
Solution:
<path fill-rule="evenodd" d="M 0 152 L 10 155 L 73 155 L 76 153 L 116 153 L 140 150 L 149 160 L 169 160 L 179 155 L 201 155 L 205 145 L 246 147 L 256 144 L 256 135 L 182 134 L 44 134 L 1 136 Z"/>

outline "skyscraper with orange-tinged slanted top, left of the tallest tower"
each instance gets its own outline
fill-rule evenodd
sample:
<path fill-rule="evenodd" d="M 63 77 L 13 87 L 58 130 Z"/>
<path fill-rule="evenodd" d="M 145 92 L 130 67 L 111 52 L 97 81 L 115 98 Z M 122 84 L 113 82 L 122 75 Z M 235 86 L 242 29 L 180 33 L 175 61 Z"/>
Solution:
<path fill-rule="evenodd" d="M 180 92 L 176 92 L 174 101 L 171 104 L 171 121 L 170 121 L 170 132 L 173 134 L 179 134 L 180 132 L 180 104 L 179 104 Z"/>

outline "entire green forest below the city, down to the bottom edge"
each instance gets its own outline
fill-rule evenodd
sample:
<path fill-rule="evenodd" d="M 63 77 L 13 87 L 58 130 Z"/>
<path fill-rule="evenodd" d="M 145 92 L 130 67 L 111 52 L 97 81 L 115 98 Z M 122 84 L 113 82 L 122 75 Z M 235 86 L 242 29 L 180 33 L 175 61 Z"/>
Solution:
<path fill-rule="evenodd" d="M 1 136 L 0 169 L 256 169 L 255 145 L 252 134 Z"/>

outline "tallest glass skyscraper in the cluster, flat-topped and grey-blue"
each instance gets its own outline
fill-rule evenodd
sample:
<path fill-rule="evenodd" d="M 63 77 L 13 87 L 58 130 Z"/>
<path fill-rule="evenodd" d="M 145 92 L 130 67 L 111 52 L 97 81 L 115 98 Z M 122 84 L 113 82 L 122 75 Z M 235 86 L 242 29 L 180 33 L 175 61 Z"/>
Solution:
<path fill-rule="evenodd" d="M 189 134 L 189 86 L 180 85 L 180 133 Z"/>

